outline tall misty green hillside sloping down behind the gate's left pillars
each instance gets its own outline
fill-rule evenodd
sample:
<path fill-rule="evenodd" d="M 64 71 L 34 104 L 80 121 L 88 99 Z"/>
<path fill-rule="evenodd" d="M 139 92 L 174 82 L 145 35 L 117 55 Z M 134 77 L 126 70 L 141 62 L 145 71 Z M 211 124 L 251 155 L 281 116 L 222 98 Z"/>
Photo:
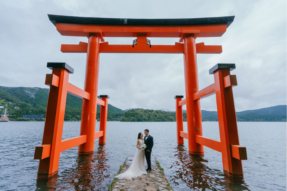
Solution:
<path fill-rule="evenodd" d="M 14 119 L 23 114 L 46 115 L 48 88 L 5 87 L 0 86 L 0 100 L 8 104 L 9 115 Z M 15 106 L 20 109 L 14 109 Z M 125 111 L 108 104 L 108 121 L 119 121 Z M 65 121 L 80 121 L 82 113 L 82 99 L 67 94 Z M 100 118 L 100 107 L 97 107 L 97 119 Z"/>

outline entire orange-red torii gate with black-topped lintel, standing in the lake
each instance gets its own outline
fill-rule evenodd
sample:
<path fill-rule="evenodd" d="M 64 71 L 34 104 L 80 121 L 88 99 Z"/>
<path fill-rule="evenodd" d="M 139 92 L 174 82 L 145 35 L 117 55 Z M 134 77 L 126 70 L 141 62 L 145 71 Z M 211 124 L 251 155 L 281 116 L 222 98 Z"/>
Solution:
<path fill-rule="evenodd" d="M 203 154 L 203 145 L 222 152 L 224 172 L 230 176 L 243 176 L 241 160 L 246 158 L 246 149 L 239 146 L 234 102 L 233 105 L 231 103 L 233 101 L 231 86 L 236 82 L 236 78 L 234 79 L 234 75 L 229 74 L 230 68 L 235 68 L 235 65 L 224 65 L 224 67 L 216 65 L 215 67 L 217 68 L 212 71 L 216 79 L 215 85 L 208 87 L 208 90 L 205 88 L 199 91 L 196 54 L 220 54 L 222 46 L 208 46 L 204 43 L 195 43 L 196 38 L 222 36 L 227 27 L 233 22 L 234 16 L 193 19 L 116 19 L 61 15 L 48 16 L 61 35 L 86 36 L 88 38 L 88 43 L 79 42 L 76 45 L 62 44 L 61 46 L 61 52 L 87 53 L 87 60 L 84 90 L 68 82 L 69 73 L 73 73 L 73 68 L 69 65 L 66 63 L 47 64 L 47 67 L 52 69 L 52 74 L 46 75 L 45 82 L 45 84 L 50 86 L 46 121 L 42 145 L 36 147 L 34 155 L 34 159 L 40 160 L 38 178 L 49 177 L 58 172 L 61 151 L 79 145 L 79 154 L 91 153 L 94 151 L 95 138 L 99 137 L 99 144 L 106 142 L 107 99 L 109 97 L 100 96 L 102 99 L 97 98 L 100 53 L 184 54 L 186 99 L 181 100 L 183 96 L 175 97 L 178 143 L 182 144 L 183 138 L 187 138 L 189 153 L 192 154 Z M 136 40 L 130 45 L 110 45 L 108 42 L 104 42 L 104 37 L 135 37 Z M 152 45 L 150 40 L 147 39 L 148 37 L 177 37 L 179 42 L 175 42 L 174 45 Z M 224 88 L 228 88 L 229 91 Z M 226 93 L 226 91 L 228 92 Z M 224 102 L 224 99 L 227 99 L 231 104 L 223 104 L 221 107 L 226 106 L 223 109 L 224 111 L 218 109 L 220 138 L 221 141 L 226 140 L 225 144 L 223 144 L 224 141 L 221 144 L 220 141 L 202 137 L 199 99 L 213 92 L 216 92 L 217 97 L 221 95 L 221 101 Z M 62 140 L 67 93 L 83 98 L 81 130 L 80 136 Z M 100 131 L 95 132 L 97 104 L 101 105 Z M 182 128 L 182 105 L 184 104 L 187 105 L 188 133 L 183 132 Z M 232 109 L 228 110 L 228 108 Z M 221 111 L 223 114 L 226 111 L 231 112 L 232 115 L 223 116 Z M 228 127 L 226 126 L 226 117 L 228 118 L 227 122 L 232 121 L 232 127 L 229 124 Z M 223 130 L 222 120 L 225 120 Z M 226 133 L 228 130 L 231 130 L 229 134 Z M 228 136 L 236 140 L 232 142 Z M 214 147 L 213 143 L 217 143 L 217 146 Z"/>

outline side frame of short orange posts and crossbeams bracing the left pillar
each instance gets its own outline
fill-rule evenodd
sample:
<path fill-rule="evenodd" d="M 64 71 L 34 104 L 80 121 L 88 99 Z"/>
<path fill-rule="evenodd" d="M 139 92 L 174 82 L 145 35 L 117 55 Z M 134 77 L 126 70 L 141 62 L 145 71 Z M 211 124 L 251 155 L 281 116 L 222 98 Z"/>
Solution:
<path fill-rule="evenodd" d="M 39 160 L 37 178 L 48 178 L 58 172 L 60 153 L 78 145 L 85 144 L 88 135 L 80 135 L 62 140 L 63 123 L 67 93 L 83 98 L 83 102 L 90 99 L 90 93 L 70 84 L 69 73 L 74 69 L 66 63 L 48 62 L 47 67 L 52 69 L 52 74 L 46 75 L 45 84 L 50 86 L 46 120 L 42 145 L 36 146 L 34 159 Z M 108 110 L 108 95 L 96 98 L 96 103 L 101 105 L 100 131 L 94 132 L 90 137 L 99 138 L 99 144 L 106 141 L 106 119 Z"/>

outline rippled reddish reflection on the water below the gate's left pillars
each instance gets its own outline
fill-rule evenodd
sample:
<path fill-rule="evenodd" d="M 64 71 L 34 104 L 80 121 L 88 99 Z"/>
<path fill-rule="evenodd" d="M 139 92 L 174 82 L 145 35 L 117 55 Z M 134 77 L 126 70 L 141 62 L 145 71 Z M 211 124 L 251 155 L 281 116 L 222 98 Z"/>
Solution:
<path fill-rule="evenodd" d="M 104 146 L 99 146 L 94 153 L 78 155 L 76 164 L 61 175 L 54 175 L 48 180 L 38 179 L 36 190 L 107 190 L 105 182 L 109 183 L 107 178 L 110 176 L 107 156 Z"/>

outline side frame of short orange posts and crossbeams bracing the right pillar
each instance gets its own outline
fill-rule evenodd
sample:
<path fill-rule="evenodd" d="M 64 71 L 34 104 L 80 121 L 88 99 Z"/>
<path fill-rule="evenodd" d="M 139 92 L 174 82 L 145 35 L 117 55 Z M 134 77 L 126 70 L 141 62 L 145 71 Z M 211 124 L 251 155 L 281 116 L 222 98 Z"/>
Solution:
<path fill-rule="evenodd" d="M 206 146 L 222 153 L 222 164 L 225 174 L 243 177 L 242 160 L 247 160 L 247 153 L 246 148 L 239 145 L 232 92 L 232 87 L 237 86 L 237 80 L 235 75 L 230 75 L 230 70 L 234 68 L 235 64 L 216 64 L 209 70 L 210 74 L 214 74 L 214 83 L 193 94 L 194 101 L 216 94 L 220 133 L 220 141 L 203 137 L 202 135 L 195 135 L 195 141 L 201 146 Z M 183 96 L 175 96 L 174 98 L 177 106 L 177 127 L 180 127 L 182 124 L 182 119 L 180 119 L 182 110 L 180 107 L 187 103 L 187 98 L 183 100 L 181 100 Z M 177 128 L 177 139 L 179 140 L 180 138 L 189 139 L 189 133 Z"/>

